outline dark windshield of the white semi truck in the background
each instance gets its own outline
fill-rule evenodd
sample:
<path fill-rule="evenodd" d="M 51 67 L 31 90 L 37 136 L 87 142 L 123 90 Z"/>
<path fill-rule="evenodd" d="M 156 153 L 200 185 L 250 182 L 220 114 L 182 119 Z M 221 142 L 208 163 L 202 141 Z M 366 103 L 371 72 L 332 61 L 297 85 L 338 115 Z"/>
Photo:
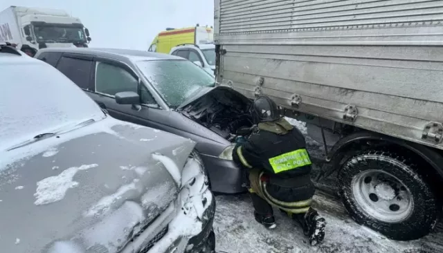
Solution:
<path fill-rule="evenodd" d="M 37 42 L 86 42 L 82 28 L 63 26 L 34 26 Z"/>

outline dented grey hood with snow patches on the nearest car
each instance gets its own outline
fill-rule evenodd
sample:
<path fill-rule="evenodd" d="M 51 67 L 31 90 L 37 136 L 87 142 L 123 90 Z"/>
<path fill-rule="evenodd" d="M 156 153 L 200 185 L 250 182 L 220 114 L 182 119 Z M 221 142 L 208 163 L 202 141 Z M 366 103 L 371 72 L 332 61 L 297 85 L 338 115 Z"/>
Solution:
<path fill-rule="evenodd" d="M 108 117 L 0 151 L 0 251 L 118 252 L 177 198 L 194 146 Z"/>

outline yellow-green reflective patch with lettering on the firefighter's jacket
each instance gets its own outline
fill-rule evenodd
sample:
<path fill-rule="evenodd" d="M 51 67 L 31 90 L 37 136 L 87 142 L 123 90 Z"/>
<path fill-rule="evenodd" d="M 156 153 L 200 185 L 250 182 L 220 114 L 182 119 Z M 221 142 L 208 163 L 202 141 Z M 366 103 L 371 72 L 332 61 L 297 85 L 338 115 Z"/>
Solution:
<path fill-rule="evenodd" d="M 296 151 L 269 158 L 269 163 L 275 174 L 312 164 L 306 149 L 297 149 Z"/>

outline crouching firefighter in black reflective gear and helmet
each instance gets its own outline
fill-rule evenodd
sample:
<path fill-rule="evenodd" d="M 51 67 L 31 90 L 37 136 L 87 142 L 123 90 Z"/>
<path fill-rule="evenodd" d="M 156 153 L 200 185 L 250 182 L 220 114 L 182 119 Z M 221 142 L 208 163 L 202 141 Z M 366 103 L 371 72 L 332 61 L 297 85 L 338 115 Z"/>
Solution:
<path fill-rule="evenodd" d="M 311 245 L 323 241 L 326 222 L 311 207 L 315 188 L 304 136 L 269 97 L 257 97 L 251 114 L 256 125 L 244 142 L 237 142 L 233 160 L 245 169 L 255 220 L 276 227 L 274 206 L 300 222 Z"/>

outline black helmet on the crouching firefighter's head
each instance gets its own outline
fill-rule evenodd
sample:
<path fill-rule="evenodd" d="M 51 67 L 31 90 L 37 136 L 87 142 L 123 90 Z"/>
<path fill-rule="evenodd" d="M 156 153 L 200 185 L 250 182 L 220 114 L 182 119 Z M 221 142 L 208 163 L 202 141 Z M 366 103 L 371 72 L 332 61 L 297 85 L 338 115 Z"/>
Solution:
<path fill-rule="evenodd" d="M 254 124 L 282 118 L 277 104 L 265 95 L 260 95 L 254 100 L 251 106 L 251 114 Z"/>

